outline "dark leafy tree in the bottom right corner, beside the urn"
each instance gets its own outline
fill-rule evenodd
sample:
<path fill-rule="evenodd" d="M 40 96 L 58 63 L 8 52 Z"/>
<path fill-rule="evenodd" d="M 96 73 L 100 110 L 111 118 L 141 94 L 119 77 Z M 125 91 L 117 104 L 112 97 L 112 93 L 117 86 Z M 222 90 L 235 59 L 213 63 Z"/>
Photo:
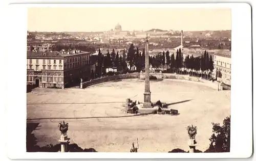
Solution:
<path fill-rule="evenodd" d="M 223 120 L 223 125 L 212 123 L 212 132 L 205 152 L 230 152 L 230 116 Z"/>

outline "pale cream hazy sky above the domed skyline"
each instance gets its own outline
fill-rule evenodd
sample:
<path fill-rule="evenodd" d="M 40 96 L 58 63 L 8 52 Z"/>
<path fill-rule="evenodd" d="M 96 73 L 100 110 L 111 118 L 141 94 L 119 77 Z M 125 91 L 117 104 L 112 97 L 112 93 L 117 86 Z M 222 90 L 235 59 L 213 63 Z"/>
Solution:
<path fill-rule="evenodd" d="M 114 30 L 231 30 L 231 9 L 215 8 L 29 8 L 28 30 L 91 32 Z"/>

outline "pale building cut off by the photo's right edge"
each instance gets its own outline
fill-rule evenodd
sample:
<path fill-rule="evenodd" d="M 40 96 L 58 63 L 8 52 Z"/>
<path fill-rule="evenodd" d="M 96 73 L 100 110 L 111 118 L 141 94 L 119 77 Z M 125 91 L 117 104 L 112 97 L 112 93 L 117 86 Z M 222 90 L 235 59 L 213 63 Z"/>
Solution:
<path fill-rule="evenodd" d="M 217 80 L 231 85 L 231 52 L 216 52 L 214 54 L 214 67 Z"/>

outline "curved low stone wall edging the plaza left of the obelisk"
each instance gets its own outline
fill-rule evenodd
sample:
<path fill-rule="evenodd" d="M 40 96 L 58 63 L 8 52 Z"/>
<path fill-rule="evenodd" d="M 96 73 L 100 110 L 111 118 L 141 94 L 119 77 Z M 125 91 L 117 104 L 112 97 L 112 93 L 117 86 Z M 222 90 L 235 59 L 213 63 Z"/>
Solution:
<path fill-rule="evenodd" d="M 86 87 L 89 87 L 92 85 L 116 81 L 116 80 L 120 80 L 120 79 L 133 79 L 133 78 L 140 78 L 140 74 L 139 73 L 127 73 L 127 74 L 119 74 L 119 75 L 105 76 L 102 78 L 92 79 L 91 81 L 81 83 L 80 88 L 86 88 Z"/>

